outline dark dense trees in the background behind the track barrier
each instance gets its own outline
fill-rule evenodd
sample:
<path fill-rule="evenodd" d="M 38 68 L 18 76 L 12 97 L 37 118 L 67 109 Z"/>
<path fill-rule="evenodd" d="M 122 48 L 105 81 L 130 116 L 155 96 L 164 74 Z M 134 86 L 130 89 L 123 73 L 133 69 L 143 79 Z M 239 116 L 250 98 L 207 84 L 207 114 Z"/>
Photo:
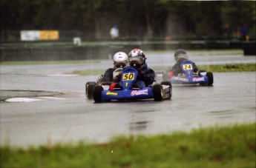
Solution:
<path fill-rule="evenodd" d="M 59 30 L 62 35 L 121 38 L 234 38 L 243 24 L 255 37 L 255 1 L 1 0 L 1 36 L 19 30 Z M 229 29 L 224 27 L 229 24 Z M 2 38 L 2 37 L 1 37 Z"/>

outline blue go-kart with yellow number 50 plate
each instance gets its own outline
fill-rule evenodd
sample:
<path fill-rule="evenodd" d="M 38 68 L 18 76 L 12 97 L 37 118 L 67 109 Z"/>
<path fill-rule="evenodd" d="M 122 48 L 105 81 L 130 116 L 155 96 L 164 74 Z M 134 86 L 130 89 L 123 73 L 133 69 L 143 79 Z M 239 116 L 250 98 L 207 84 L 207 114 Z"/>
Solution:
<path fill-rule="evenodd" d="M 138 70 L 135 67 L 126 67 L 121 72 L 121 84 L 111 90 L 106 90 L 100 85 L 93 88 L 95 102 L 111 100 L 137 100 L 154 98 L 155 101 L 171 99 L 172 87 L 170 81 L 162 81 L 148 87 L 138 88 Z"/>

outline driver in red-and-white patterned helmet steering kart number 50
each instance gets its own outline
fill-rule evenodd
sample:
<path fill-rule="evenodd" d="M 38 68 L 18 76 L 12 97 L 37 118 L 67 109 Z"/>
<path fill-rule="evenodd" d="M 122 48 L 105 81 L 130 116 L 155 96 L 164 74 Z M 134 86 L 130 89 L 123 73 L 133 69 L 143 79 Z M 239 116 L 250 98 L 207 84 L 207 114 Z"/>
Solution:
<path fill-rule="evenodd" d="M 148 67 L 145 62 L 145 54 L 140 49 L 131 50 L 128 54 L 130 67 L 136 67 L 139 71 L 137 82 L 134 84 L 134 87 L 148 87 L 148 85 L 153 84 L 155 73 L 154 70 Z M 114 78 L 114 82 L 119 82 L 121 80 L 121 75 L 117 75 Z"/>

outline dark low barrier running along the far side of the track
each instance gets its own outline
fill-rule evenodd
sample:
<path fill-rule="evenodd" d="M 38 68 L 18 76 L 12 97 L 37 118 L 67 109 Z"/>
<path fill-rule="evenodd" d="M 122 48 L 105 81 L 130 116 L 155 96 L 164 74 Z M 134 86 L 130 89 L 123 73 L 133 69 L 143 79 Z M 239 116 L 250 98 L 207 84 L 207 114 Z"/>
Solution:
<path fill-rule="evenodd" d="M 122 50 L 243 49 L 244 55 L 256 55 L 256 41 L 95 41 L 1 44 L 1 61 L 55 61 L 102 59 Z"/>

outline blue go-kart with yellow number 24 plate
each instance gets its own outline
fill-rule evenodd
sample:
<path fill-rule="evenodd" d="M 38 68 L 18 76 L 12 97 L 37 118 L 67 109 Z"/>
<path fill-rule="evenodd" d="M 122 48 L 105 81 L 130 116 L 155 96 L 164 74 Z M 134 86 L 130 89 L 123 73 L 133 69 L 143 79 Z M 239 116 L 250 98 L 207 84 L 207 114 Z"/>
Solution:
<path fill-rule="evenodd" d="M 206 72 L 205 70 L 199 70 L 198 73 L 194 73 L 193 62 L 190 60 L 185 60 L 180 64 L 183 73 L 177 76 L 168 77 L 168 81 L 172 84 L 200 84 L 200 85 L 212 85 L 214 82 L 214 77 L 211 72 Z"/>

